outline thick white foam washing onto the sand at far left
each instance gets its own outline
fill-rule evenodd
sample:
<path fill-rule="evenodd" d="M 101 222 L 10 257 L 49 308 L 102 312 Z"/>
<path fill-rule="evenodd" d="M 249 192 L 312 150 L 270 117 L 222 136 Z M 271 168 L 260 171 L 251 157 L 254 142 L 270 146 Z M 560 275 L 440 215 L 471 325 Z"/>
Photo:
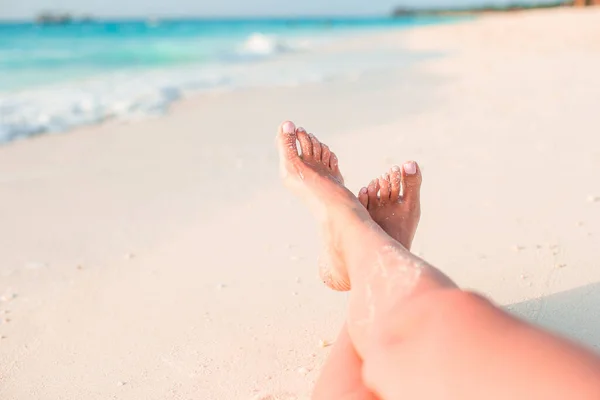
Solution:
<path fill-rule="evenodd" d="M 226 83 L 210 75 L 141 74 L 0 94 L 0 143 L 108 120 L 161 115 L 188 92 Z"/>

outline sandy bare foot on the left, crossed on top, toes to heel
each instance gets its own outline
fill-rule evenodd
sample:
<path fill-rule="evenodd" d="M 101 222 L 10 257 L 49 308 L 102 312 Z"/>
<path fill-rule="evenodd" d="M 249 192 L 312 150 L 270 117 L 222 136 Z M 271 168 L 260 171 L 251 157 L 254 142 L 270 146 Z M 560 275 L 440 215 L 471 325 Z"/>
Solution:
<path fill-rule="evenodd" d="M 298 153 L 300 143 L 302 155 Z M 280 171 L 284 183 L 303 198 L 321 222 L 325 254 L 328 260 L 321 265 L 321 278 L 330 288 L 350 290 L 350 279 L 338 245 L 340 213 L 355 214 L 360 219 L 371 219 L 356 197 L 344 186 L 336 155 L 314 135 L 294 123 L 286 121 L 279 127 L 277 143 Z"/>

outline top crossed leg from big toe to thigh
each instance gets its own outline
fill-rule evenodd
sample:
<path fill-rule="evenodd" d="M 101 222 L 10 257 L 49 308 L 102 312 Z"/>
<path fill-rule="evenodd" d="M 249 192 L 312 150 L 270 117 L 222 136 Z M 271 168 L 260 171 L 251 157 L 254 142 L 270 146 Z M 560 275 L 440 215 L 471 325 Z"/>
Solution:
<path fill-rule="evenodd" d="M 557 394 L 565 391 L 568 398 L 600 398 L 600 362 L 593 354 L 459 291 L 388 236 L 330 168 L 299 157 L 296 139 L 294 125 L 284 123 L 284 181 L 306 200 L 340 261 L 331 279 L 353 288 L 348 331 L 372 391 L 389 399 L 398 393 L 437 398 L 431 391 L 442 388 L 444 398 L 468 399 L 481 398 L 480 385 L 484 395 L 497 398 L 531 398 L 540 391 L 547 398 L 564 398 Z M 536 379 L 524 380 L 532 371 Z M 473 376 L 480 380 L 473 383 Z M 410 380 L 415 377 L 427 381 L 419 385 Z M 499 397 L 507 390 L 511 396 Z"/>

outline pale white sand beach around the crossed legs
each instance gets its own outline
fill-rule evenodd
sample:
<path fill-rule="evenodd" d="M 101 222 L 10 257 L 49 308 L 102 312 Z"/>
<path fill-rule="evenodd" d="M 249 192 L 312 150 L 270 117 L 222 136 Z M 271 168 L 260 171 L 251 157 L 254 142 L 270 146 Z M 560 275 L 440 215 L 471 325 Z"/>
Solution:
<path fill-rule="evenodd" d="M 427 57 L 0 146 L 0 398 L 309 398 L 346 295 L 280 184 L 285 119 L 355 193 L 419 161 L 414 252 L 600 346 L 598 37 L 600 9 L 371 34 L 346 45 Z"/>

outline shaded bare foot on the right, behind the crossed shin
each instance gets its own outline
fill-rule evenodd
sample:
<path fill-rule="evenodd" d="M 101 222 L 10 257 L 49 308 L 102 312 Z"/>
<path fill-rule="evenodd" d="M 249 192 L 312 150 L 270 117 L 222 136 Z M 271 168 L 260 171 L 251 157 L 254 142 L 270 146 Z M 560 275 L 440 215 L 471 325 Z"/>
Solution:
<path fill-rule="evenodd" d="M 371 218 L 409 250 L 421 217 L 421 181 L 419 166 L 409 161 L 402 168 L 392 167 L 358 193 Z"/>

